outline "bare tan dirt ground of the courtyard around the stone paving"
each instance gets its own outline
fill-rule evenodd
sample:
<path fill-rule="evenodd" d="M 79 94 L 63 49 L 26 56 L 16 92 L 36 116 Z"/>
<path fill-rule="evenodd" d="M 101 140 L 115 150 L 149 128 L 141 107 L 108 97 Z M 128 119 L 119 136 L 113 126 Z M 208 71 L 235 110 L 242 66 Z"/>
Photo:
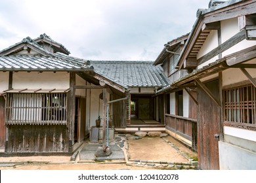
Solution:
<path fill-rule="evenodd" d="M 186 148 L 173 137 L 165 137 L 179 150 L 173 148 L 160 137 L 143 137 L 138 140 L 127 140 L 129 148 L 126 152 L 130 159 L 146 159 L 148 161 L 167 161 L 188 163 L 188 159 L 181 155 L 186 153 L 190 158 L 197 160 L 197 153 Z M 70 161 L 70 156 L 30 156 L 30 157 L 0 157 L 1 162 L 8 162 L 10 166 L 0 165 L 1 170 L 104 170 L 104 169 L 155 169 L 154 167 L 136 167 L 125 163 L 79 163 Z M 22 162 L 22 163 L 16 163 Z M 16 165 L 12 165 L 12 163 Z"/>

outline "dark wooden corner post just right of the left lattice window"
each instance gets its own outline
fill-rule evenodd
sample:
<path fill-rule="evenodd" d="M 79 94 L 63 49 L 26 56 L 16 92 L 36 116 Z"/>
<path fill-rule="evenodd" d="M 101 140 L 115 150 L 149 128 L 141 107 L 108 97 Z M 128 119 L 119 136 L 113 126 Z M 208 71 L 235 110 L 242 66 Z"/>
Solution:
<path fill-rule="evenodd" d="M 72 152 L 75 132 L 75 73 L 70 72 L 70 95 L 68 103 L 68 152 Z"/>

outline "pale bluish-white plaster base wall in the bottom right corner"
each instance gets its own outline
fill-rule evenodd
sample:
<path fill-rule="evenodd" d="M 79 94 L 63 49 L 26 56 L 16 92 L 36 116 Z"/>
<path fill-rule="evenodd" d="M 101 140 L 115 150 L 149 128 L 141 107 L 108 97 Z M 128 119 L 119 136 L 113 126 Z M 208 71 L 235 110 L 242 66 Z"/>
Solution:
<path fill-rule="evenodd" d="M 255 170 L 256 154 L 219 141 L 219 165 L 221 170 Z"/>

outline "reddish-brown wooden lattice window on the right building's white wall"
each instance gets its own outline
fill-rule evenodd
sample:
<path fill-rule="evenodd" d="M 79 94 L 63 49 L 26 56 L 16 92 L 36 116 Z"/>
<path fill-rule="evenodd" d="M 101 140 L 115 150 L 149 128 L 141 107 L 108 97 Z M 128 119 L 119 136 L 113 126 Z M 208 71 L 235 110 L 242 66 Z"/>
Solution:
<path fill-rule="evenodd" d="M 253 85 L 224 90 L 224 120 L 256 124 L 256 89 Z"/>

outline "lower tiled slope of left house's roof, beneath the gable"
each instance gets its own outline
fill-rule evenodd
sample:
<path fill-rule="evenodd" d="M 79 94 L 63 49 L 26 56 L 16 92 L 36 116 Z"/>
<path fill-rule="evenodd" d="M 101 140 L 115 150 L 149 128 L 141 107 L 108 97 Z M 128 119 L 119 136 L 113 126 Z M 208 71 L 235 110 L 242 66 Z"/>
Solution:
<path fill-rule="evenodd" d="M 0 71 L 83 71 L 90 65 L 72 59 L 41 55 L 10 55 L 0 57 Z"/>

